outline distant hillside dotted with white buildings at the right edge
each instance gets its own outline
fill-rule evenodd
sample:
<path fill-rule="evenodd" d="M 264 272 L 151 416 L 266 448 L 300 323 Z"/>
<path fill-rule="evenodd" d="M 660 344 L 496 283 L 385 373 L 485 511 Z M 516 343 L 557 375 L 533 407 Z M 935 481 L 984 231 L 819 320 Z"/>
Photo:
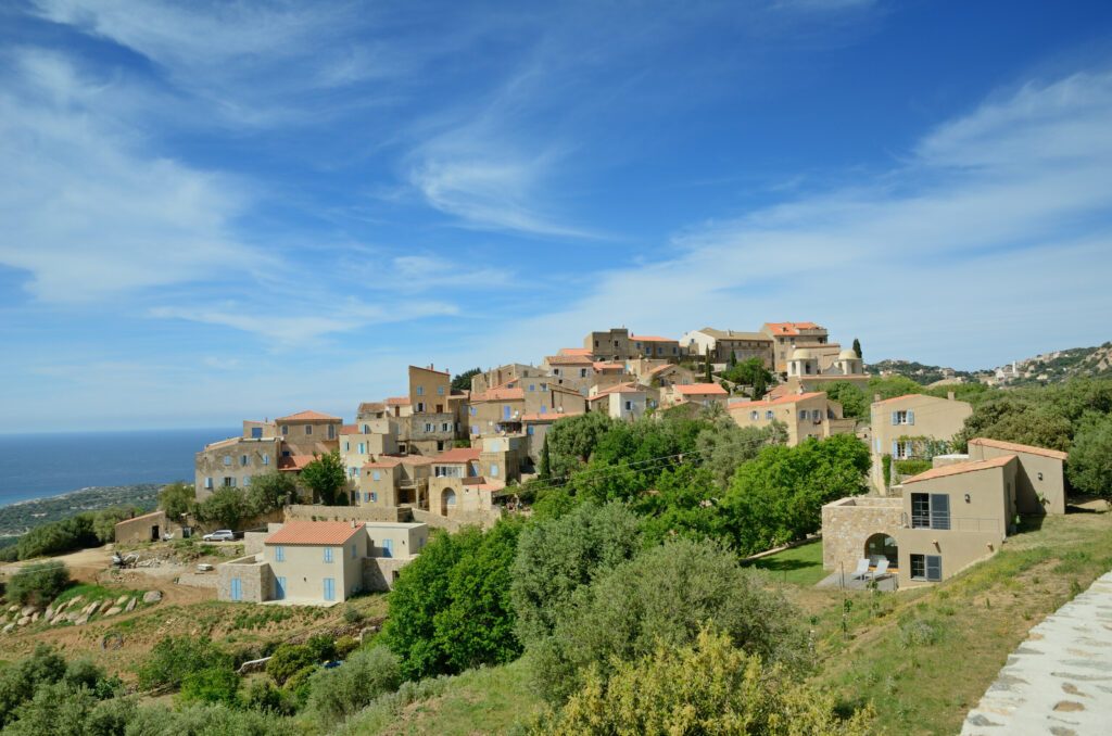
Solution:
<path fill-rule="evenodd" d="M 1073 377 L 1112 377 L 1112 342 L 1095 348 L 1069 348 L 1024 358 L 987 370 L 955 370 L 914 360 L 880 360 L 865 366 L 874 376 L 905 376 L 924 386 L 945 378 L 982 381 L 997 386 L 1042 386 Z"/>

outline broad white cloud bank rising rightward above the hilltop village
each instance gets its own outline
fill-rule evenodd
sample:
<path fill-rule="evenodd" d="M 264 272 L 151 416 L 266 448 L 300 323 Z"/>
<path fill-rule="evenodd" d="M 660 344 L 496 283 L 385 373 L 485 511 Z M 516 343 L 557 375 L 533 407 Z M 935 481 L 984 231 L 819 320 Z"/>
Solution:
<path fill-rule="evenodd" d="M 856 186 L 691 227 L 674 238 L 681 255 L 602 273 L 572 308 L 507 331 L 502 357 L 608 325 L 679 335 L 785 319 L 959 367 L 1100 341 L 1112 311 L 1109 130 L 1112 73 L 1032 81 Z"/>

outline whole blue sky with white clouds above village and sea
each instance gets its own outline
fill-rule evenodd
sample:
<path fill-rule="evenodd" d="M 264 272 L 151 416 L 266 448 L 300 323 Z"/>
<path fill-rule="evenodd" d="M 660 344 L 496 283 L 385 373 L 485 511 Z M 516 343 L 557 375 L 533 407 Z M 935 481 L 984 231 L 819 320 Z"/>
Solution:
<path fill-rule="evenodd" d="M 17 1 L 0 162 L 10 429 L 350 416 L 618 325 L 1112 337 L 1108 2 Z"/>

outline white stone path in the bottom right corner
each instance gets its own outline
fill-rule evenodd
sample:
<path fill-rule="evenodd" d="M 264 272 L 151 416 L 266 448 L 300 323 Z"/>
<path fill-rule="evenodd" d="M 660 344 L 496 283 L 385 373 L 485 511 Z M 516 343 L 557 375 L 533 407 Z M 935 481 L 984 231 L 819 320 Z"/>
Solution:
<path fill-rule="evenodd" d="M 962 734 L 1112 734 L 1112 573 L 1031 629 Z"/>

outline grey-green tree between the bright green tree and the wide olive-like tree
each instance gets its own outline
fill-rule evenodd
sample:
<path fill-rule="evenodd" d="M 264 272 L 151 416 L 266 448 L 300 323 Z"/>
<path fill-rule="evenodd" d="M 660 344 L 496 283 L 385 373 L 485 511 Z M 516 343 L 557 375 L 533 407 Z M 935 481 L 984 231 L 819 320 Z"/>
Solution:
<path fill-rule="evenodd" d="M 622 504 L 582 504 L 559 518 L 528 525 L 517 544 L 510 584 L 517 638 L 529 645 L 549 636 L 576 589 L 639 548 L 638 519 Z"/>

